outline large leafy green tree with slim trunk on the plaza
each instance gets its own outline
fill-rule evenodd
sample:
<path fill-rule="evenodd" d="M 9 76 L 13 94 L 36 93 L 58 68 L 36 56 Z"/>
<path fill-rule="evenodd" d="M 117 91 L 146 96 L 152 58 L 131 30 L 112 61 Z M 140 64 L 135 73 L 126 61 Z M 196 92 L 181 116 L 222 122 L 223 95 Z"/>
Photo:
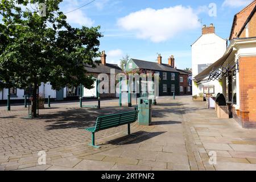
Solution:
<path fill-rule="evenodd" d="M 0 1 L 0 86 L 31 88 L 33 117 L 42 82 L 51 82 L 56 90 L 80 83 L 92 88 L 93 78 L 85 74 L 84 65 L 100 63 L 100 27 L 71 27 L 59 10 L 60 2 Z M 46 5 L 46 16 L 40 16 L 39 3 Z"/>

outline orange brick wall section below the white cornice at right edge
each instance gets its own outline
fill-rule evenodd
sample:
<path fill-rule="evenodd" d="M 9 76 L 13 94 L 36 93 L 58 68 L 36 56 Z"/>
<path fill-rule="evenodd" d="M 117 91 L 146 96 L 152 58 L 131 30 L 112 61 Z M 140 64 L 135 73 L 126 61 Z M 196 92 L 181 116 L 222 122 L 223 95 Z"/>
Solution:
<path fill-rule="evenodd" d="M 256 126 L 256 82 L 254 70 L 256 69 L 256 56 L 241 57 L 240 65 L 240 119 L 243 125 Z"/>

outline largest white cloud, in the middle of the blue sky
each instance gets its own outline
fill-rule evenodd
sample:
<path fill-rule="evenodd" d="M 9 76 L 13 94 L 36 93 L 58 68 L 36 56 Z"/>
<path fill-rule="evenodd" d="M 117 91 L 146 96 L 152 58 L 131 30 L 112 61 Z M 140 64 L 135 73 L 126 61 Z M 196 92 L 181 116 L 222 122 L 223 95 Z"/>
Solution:
<path fill-rule="evenodd" d="M 164 42 L 177 34 L 200 27 L 199 18 L 191 7 L 175 6 L 164 9 L 136 11 L 119 18 L 117 24 L 134 32 L 139 39 Z"/>

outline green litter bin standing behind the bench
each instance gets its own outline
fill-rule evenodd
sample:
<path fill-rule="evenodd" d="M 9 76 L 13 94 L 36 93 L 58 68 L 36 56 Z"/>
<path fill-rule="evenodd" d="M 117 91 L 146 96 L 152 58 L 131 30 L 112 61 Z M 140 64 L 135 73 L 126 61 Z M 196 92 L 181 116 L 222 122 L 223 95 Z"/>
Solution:
<path fill-rule="evenodd" d="M 152 100 L 148 98 L 138 98 L 138 122 L 139 125 L 150 125 L 152 118 Z"/>

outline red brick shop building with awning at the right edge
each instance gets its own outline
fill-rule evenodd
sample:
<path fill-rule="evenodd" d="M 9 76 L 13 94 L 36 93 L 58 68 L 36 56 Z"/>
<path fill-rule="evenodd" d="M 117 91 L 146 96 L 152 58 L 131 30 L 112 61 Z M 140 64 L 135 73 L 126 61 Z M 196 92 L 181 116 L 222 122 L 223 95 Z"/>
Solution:
<path fill-rule="evenodd" d="M 196 76 L 222 82 L 232 117 L 242 127 L 256 128 L 256 0 L 234 16 L 230 44 L 224 56 Z"/>

